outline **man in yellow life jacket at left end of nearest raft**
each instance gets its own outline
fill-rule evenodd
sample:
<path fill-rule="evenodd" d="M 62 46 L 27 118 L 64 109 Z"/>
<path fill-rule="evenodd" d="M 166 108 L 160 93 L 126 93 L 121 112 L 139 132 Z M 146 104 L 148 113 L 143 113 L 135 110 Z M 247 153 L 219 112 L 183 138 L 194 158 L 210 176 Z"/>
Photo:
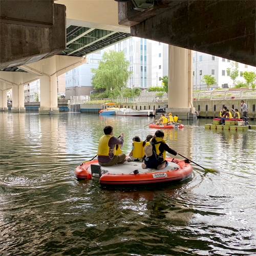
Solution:
<path fill-rule="evenodd" d="M 113 136 L 113 127 L 105 126 L 103 129 L 105 135 L 99 140 L 98 145 L 98 163 L 101 166 L 112 166 L 125 162 L 125 154 L 116 153 L 116 145 L 123 145 L 123 133 L 120 134 L 120 139 Z"/>

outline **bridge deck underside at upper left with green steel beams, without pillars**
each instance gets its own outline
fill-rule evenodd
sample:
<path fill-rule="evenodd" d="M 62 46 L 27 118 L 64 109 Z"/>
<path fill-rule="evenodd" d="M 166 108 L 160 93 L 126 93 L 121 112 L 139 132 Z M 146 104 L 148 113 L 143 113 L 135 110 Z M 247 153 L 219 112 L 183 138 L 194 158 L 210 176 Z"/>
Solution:
<path fill-rule="evenodd" d="M 82 57 L 131 37 L 113 0 L 1 0 L 0 12 L 4 71 L 55 54 Z"/>

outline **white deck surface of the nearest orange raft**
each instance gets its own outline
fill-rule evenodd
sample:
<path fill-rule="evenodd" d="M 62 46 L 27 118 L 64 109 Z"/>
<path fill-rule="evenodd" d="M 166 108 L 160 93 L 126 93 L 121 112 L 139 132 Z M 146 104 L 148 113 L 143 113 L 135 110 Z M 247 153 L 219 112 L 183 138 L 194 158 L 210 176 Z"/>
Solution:
<path fill-rule="evenodd" d="M 146 168 L 143 169 L 141 167 L 142 162 L 137 161 L 131 161 L 131 162 L 124 162 L 123 164 L 115 164 L 112 166 L 101 166 L 101 173 L 102 175 L 105 173 L 109 174 L 133 174 L 134 170 L 138 170 L 139 173 L 160 173 L 167 170 L 174 170 L 180 168 L 180 166 L 173 162 L 168 162 L 168 166 L 164 169 L 158 170 L 158 169 L 150 169 Z M 99 165 L 98 163 L 95 163 L 95 165 Z M 91 166 L 88 168 L 88 171 L 91 172 Z"/>

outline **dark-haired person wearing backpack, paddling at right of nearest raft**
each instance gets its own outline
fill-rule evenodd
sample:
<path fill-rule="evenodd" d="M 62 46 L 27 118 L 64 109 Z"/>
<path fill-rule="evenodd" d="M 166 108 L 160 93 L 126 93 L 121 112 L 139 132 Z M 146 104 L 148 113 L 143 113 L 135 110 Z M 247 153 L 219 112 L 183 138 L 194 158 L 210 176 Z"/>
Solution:
<path fill-rule="evenodd" d="M 155 153 L 158 156 L 158 159 L 156 159 L 155 157 L 155 153 L 152 152 L 148 152 L 147 149 L 145 147 L 145 157 L 144 157 L 144 162 L 142 163 L 142 168 L 155 168 L 155 169 L 164 169 L 165 167 L 167 167 L 168 162 L 165 160 L 165 155 L 166 155 L 166 151 L 174 156 L 178 155 L 177 151 L 172 150 L 172 148 L 170 148 L 166 143 L 165 140 L 163 139 L 164 137 L 164 133 L 162 131 L 156 131 L 154 137 L 151 140 L 152 146 L 153 147 L 153 151 L 155 150 Z"/>

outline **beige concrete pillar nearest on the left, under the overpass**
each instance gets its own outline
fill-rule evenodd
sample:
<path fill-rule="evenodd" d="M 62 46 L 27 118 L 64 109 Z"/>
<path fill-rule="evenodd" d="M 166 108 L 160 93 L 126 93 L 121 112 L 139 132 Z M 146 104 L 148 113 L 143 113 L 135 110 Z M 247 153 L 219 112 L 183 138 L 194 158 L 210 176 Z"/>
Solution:
<path fill-rule="evenodd" d="M 40 76 L 39 114 L 59 114 L 56 75 Z"/>

